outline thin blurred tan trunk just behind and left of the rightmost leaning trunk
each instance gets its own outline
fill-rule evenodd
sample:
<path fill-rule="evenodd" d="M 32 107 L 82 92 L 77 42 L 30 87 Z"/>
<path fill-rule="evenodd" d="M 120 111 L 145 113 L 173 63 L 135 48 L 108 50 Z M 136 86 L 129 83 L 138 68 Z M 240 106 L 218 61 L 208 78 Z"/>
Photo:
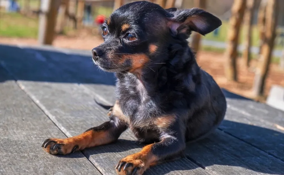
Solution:
<path fill-rule="evenodd" d="M 267 0 L 261 0 L 258 8 L 258 30 L 259 30 L 259 55 L 261 54 L 262 45 L 265 35 L 265 12 Z"/>

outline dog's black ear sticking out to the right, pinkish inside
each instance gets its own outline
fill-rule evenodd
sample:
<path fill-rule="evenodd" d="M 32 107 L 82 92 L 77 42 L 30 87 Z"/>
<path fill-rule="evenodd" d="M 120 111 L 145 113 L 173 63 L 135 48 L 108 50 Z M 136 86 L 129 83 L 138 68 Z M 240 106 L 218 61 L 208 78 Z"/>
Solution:
<path fill-rule="evenodd" d="M 171 13 L 173 17 L 170 18 L 168 26 L 173 33 L 184 33 L 188 35 L 188 37 L 191 31 L 205 35 L 222 24 L 218 17 L 199 8 L 176 10 Z"/>

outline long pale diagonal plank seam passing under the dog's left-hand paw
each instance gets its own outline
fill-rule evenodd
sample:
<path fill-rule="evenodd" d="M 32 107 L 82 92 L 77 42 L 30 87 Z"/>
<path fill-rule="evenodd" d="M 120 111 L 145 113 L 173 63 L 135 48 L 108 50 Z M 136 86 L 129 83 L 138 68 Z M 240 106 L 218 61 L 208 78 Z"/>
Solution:
<path fill-rule="evenodd" d="M 7 73 L 14 79 L 15 83 L 17 84 L 17 86 L 33 101 L 34 104 L 36 104 L 36 106 L 38 106 L 38 108 L 40 108 L 40 110 L 49 118 L 49 120 L 51 120 L 54 125 L 66 136 L 66 137 L 72 137 L 72 135 L 67 131 L 67 129 L 65 129 L 55 118 L 54 115 L 52 115 L 46 108 L 44 105 L 42 105 L 40 103 L 40 101 L 38 99 L 36 99 L 36 97 L 34 95 L 32 95 L 28 90 L 26 90 L 26 88 L 24 87 L 24 85 L 22 85 L 20 82 L 17 81 L 17 77 L 15 75 L 13 75 L 9 69 L 7 68 L 6 64 L 1 61 L 0 62 L 0 66 L 4 68 L 4 70 L 7 71 Z M 57 122 L 57 123 L 56 123 Z M 91 162 L 87 156 L 80 151 L 85 157 L 86 159 L 100 172 L 100 174 L 103 175 L 103 173 L 93 164 L 93 162 Z"/>

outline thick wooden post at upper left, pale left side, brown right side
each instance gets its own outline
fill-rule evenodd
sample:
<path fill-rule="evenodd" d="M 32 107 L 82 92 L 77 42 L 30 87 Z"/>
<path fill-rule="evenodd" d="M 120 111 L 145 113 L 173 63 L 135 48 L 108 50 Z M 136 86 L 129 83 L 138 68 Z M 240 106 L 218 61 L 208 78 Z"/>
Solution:
<path fill-rule="evenodd" d="M 38 42 L 52 45 L 54 28 L 60 0 L 41 0 L 41 13 L 39 16 Z"/>

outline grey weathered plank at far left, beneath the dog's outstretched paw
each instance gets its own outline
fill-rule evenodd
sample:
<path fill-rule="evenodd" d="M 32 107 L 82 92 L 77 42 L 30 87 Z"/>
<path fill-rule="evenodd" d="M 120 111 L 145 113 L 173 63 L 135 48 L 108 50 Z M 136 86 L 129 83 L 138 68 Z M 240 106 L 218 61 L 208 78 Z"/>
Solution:
<path fill-rule="evenodd" d="M 45 138 L 66 136 L 11 79 L 0 67 L 0 174 L 101 174 L 81 152 L 42 150 Z"/>

